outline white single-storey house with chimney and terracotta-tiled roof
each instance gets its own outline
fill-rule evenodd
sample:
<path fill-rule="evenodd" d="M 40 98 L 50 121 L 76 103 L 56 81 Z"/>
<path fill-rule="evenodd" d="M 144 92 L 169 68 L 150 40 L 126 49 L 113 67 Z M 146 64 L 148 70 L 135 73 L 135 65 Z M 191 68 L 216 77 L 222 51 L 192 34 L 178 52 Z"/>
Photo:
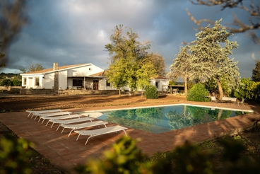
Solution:
<path fill-rule="evenodd" d="M 20 74 L 22 76 L 22 86 L 25 88 L 56 88 L 56 89 L 76 89 L 84 88 L 90 90 L 114 90 L 107 82 L 104 69 L 93 64 L 75 64 L 58 67 L 54 63 L 52 69 L 32 71 Z M 150 84 L 157 86 L 158 91 L 162 91 L 162 86 L 168 84 L 165 77 L 158 77 L 150 80 Z"/>

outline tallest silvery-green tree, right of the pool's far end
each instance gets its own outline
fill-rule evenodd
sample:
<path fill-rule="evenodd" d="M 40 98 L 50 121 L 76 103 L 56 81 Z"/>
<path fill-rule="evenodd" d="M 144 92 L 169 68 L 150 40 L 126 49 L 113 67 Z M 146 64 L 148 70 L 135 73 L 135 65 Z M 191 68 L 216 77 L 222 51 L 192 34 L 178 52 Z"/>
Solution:
<path fill-rule="evenodd" d="M 192 55 L 193 74 L 190 79 L 199 78 L 201 81 L 212 79 L 218 84 L 218 91 L 222 98 L 221 81 L 225 81 L 225 85 L 233 89 L 237 89 L 241 82 L 238 62 L 233 62 L 234 58 L 229 59 L 232 50 L 238 47 L 237 42 L 228 40 L 228 36 L 232 34 L 223 29 L 220 21 L 215 21 L 213 28 L 208 25 L 197 33 L 193 45 L 189 46 L 189 51 Z"/>

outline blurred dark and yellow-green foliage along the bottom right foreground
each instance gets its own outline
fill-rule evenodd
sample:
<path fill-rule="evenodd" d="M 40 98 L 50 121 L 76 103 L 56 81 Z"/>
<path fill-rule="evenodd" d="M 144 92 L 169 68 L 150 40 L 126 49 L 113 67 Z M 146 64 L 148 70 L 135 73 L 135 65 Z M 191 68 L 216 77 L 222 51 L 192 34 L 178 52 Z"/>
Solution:
<path fill-rule="evenodd" d="M 208 147 L 222 149 L 222 153 L 208 151 Z M 136 147 L 136 140 L 122 137 L 112 149 L 104 151 L 102 160 L 90 159 L 77 166 L 78 173 L 259 173 L 258 157 L 244 156 L 246 146 L 240 137 L 219 139 L 201 146 L 190 144 L 178 146 L 168 153 L 155 153 L 151 158 Z M 213 159 L 220 156 L 224 168 L 215 166 Z"/>

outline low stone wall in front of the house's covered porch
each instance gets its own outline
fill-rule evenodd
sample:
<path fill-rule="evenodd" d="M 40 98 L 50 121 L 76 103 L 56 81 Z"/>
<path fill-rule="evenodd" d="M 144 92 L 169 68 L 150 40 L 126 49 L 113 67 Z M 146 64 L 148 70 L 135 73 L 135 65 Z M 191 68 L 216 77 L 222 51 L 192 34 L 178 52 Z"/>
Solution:
<path fill-rule="evenodd" d="M 59 95 L 117 95 L 118 90 L 59 90 Z"/>

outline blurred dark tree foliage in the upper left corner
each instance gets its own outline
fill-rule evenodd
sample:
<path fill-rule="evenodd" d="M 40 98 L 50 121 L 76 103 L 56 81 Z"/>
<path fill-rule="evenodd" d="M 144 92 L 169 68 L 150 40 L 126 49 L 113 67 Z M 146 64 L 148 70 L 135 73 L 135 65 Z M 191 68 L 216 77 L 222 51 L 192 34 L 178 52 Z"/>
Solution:
<path fill-rule="evenodd" d="M 0 41 L 1 50 L 6 56 L 0 59 L 0 66 L 8 61 L 8 48 L 17 38 L 20 30 L 28 23 L 25 15 L 25 0 L 1 0 L 0 3 Z"/>

